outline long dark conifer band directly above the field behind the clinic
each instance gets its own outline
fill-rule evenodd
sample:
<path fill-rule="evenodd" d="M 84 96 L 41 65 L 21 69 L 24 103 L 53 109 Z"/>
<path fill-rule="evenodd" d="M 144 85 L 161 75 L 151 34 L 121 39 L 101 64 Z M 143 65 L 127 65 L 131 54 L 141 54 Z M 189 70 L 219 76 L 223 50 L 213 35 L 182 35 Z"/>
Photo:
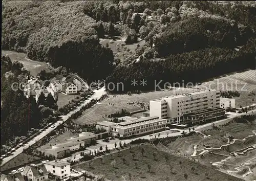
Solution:
<path fill-rule="evenodd" d="M 130 66 L 120 65 L 106 78 L 106 84 L 113 82 L 118 85 L 117 83 L 122 82 L 123 92 L 154 90 L 155 87 L 159 90 L 159 87 L 163 89 L 165 82 L 169 82 L 169 86 L 173 86 L 174 83 L 180 83 L 182 86 L 182 83 L 186 85 L 188 82 L 201 82 L 247 68 L 255 69 L 255 43 L 256 38 L 250 38 L 240 51 L 212 47 L 170 55 L 162 61 L 143 59 Z M 146 85 L 134 86 L 131 84 L 134 79 L 137 81 L 144 79 L 147 81 Z M 111 88 L 111 92 L 122 92 L 120 87 L 119 90 Z"/>

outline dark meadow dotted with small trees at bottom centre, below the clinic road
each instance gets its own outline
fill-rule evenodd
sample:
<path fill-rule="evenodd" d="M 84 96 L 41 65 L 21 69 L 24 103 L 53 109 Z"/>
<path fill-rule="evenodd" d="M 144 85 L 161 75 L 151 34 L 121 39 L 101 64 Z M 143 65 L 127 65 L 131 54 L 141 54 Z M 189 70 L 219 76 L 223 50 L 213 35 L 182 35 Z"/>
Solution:
<path fill-rule="evenodd" d="M 145 150 L 144 156 L 142 156 L 141 148 Z M 156 153 L 155 158 L 154 152 Z M 133 154 L 135 154 L 135 160 L 133 160 Z M 185 180 L 184 174 L 187 174 L 186 180 L 206 180 L 205 173 L 208 173 L 208 178 L 211 180 L 219 180 L 219 178 L 222 180 L 240 180 L 182 157 L 156 151 L 151 146 L 134 147 L 132 153 L 127 149 L 120 152 L 120 157 L 118 157 L 118 153 L 114 153 L 112 156 L 115 161 L 112 161 L 111 156 L 108 155 L 102 157 L 102 163 L 100 159 L 95 159 L 90 166 L 88 163 L 84 163 L 76 167 L 95 174 L 104 174 L 106 178 L 111 180 Z M 165 156 L 168 158 L 167 163 Z M 113 165 L 114 162 L 116 162 L 115 165 Z M 135 163 L 137 163 L 137 168 Z M 150 165 L 150 169 L 147 165 Z M 195 168 L 194 172 L 191 171 L 192 167 Z M 170 168 L 173 168 L 172 171 Z M 131 179 L 129 173 L 131 173 Z"/>

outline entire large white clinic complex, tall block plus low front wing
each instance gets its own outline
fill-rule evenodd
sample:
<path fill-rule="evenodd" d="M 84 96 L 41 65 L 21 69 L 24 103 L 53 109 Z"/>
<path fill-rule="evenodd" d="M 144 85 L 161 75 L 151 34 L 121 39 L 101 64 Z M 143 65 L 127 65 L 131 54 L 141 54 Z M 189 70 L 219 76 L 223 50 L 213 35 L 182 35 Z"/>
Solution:
<path fill-rule="evenodd" d="M 97 128 L 104 128 L 112 135 L 130 137 L 153 133 L 177 124 L 200 124 L 225 117 L 225 109 L 220 107 L 218 90 L 197 90 L 193 93 L 168 96 L 150 101 L 150 114 L 147 117 L 118 118 L 120 122 L 102 121 Z M 180 125 L 185 126 L 185 125 Z"/>

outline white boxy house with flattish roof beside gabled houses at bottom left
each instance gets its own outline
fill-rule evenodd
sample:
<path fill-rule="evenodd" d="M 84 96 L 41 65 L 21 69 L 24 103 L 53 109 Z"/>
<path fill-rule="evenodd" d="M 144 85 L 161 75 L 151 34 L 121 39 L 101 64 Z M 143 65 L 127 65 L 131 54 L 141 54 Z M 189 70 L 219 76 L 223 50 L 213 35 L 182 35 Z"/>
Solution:
<path fill-rule="evenodd" d="M 70 176 L 70 163 L 62 161 L 51 161 L 45 163 L 48 172 L 53 175 L 59 176 L 60 179 Z"/>

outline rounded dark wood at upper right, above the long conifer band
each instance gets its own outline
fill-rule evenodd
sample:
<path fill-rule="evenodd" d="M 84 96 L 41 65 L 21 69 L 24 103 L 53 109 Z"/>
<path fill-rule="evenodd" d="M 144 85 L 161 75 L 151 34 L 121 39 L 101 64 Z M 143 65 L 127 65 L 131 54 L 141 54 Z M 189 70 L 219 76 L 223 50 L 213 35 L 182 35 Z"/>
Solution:
<path fill-rule="evenodd" d="M 239 29 L 237 22 L 192 17 L 170 24 L 156 38 L 155 49 L 159 57 L 209 47 L 234 49 L 243 46 L 250 37 L 255 37 L 253 30 Z"/>

